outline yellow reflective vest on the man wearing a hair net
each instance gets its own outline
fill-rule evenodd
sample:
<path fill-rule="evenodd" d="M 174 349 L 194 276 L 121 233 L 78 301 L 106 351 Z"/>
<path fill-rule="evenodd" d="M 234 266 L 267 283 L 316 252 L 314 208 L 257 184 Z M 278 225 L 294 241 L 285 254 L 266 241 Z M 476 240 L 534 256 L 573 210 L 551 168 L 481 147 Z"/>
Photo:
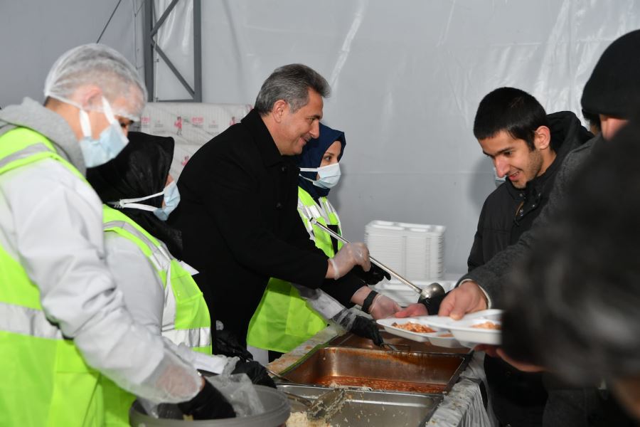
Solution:
<path fill-rule="evenodd" d="M 85 181 L 54 150 L 38 132 L 23 127 L 9 130 L 0 136 L 0 174 L 53 159 Z M 19 261 L 0 247 L 0 423 L 102 426 L 103 377 L 87 366 L 73 341 L 48 322 L 40 298 L 40 290 Z"/>

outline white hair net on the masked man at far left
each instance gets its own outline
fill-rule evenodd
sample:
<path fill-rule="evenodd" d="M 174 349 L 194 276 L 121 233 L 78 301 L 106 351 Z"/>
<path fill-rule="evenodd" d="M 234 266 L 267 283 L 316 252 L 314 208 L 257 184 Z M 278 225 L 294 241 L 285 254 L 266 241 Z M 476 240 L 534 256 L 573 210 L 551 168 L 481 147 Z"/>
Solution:
<path fill-rule="evenodd" d="M 139 120 L 146 88 L 134 66 L 114 49 L 90 43 L 66 51 L 51 67 L 44 95 L 81 107 L 71 97 L 83 85 L 97 85 L 112 106 L 117 97 L 124 96 L 127 105 L 114 107 L 114 114 Z M 100 103 L 94 108 L 100 109 Z"/>

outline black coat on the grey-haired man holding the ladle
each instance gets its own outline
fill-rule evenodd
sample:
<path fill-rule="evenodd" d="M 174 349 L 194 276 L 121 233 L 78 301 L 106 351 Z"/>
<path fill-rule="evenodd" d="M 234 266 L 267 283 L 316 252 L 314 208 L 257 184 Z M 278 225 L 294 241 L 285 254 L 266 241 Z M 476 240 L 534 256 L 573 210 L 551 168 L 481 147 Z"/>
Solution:
<path fill-rule="evenodd" d="M 347 307 L 363 286 L 353 273 L 324 279 L 327 257 L 297 211 L 298 174 L 251 111 L 198 149 L 178 179 L 170 221 L 182 232 L 183 259 L 206 273 L 199 285 L 212 318 L 242 342 L 271 277 L 322 287 Z"/>

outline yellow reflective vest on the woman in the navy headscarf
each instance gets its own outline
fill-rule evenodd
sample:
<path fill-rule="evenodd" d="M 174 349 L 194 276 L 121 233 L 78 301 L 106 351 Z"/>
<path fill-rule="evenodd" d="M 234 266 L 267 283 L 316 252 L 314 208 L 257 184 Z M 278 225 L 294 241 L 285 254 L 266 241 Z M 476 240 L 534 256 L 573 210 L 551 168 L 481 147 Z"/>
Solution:
<path fill-rule="evenodd" d="M 338 231 L 340 219 L 326 197 L 321 197 L 319 201 L 320 204 L 316 204 L 309 193 L 298 188 L 298 211 L 304 226 L 316 246 L 331 257 L 334 255 L 331 236 L 320 228 L 311 227 L 308 218 L 317 218 L 324 225 L 338 226 Z M 341 246 L 342 243 L 338 242 L 338 248 Z M 296 288 L 284 280 L 271 278 L 249 324 L 247 344 L 289 352 L 324 327 L 326 320 L 306 305 Z"/>

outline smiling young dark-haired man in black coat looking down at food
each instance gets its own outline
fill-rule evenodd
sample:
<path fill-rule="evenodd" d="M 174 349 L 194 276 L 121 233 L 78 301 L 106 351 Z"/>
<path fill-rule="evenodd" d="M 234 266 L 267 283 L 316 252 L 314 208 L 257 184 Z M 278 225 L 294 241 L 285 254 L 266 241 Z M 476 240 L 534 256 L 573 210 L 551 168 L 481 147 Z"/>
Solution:
<path fill-rule="evenodd" d="M 507 179 L 484 201 L 467 260 L 469 271 L 516 243 L 531 227 L 549 199 L 566 154 L 593 136 L 572 112 L 546 115 L 535 97 L 516 88 L 498 88 L 481 100 L 474 135 L 494 162 L 498 176 Z M 491 406 L 501 425 L 543 424 L 548 393 L 542 374 L 518 371 L 499 357 L 489 356 L 484 369 Z M 550 393 L 555 394 L 556 388 Z M 564 386 L 560 389 L 565 395 L 583 393 Z"/>

